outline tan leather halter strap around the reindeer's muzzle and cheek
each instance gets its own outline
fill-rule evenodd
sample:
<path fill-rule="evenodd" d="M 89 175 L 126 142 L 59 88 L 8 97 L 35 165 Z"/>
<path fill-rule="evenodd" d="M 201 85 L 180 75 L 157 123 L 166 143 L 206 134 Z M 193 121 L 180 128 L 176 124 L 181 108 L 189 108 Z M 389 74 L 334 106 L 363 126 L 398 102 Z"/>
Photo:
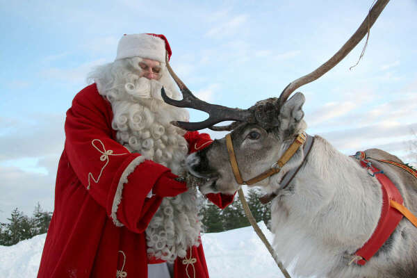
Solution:
<path fill-rule="evenodd" d="M 281 167 L 283 167 L 291 159 L 291 157 L 293 157 L 293 155 L 295 154 L 295 152 L 297 152 L 300 146 L 304 144 L 305 140 L 306 135 L 304 133 L 298 134 L 293 144 L 291 144 L 291 146 L 284 152 L 281 158 L 279 158 L 279 160 L 276 163 L 274 163 L 270 167 L 270 169 L 266 170 L 265 172 L 257 175 L 252 179 L 243 181 L 242 176 L 240 175 L 238 161 L 236 161 L 236 155 L 233 148 L 233 142 L 231 141 L 231 135 L 230 133 L 228 133 L 226 136 L 227 152 L 229 152 L 231 170 L 233 170 L 237 183 L 251 185 L 272 176 L 272 174 L 277 174 L 279 171 L 281 171 Z"/>

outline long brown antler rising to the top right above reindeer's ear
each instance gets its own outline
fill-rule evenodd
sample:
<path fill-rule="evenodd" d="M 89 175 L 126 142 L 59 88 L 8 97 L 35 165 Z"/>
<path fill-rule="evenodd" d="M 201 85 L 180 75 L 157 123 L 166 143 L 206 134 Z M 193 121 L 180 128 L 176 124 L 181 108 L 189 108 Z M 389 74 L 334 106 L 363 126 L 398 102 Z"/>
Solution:
<path fill-rule="evenodd" d="M 323 74 L 332 70 L 332 68 L 337 65 L 349 52 L 357 46 L 357 44 L 363 39 L 366 33 L 369 33 L 370 28 L 373 24 L 377 21 L 377 18 L 384 10 L 386 4 L 389 0 L 378 0 L 377 3 L 369 10 L 368 15 L 363 19 L 361 26 L 357 29 L 356 32 L 350 37 L 343 47 L 339 49 L 332 58 L 327 60 L 326 63 L 320 65 L 316 70 L 313 72 L 300 77 L 299 79 L 295 79 L 295 81 L 289 83 L 286 88 L 281 92 L 279 96 L 279 104 L 282 105 L 288 99 L 292 92 L 300 88 L 302 85 L 315 81 L 316 79 L 320 78 Z"/>

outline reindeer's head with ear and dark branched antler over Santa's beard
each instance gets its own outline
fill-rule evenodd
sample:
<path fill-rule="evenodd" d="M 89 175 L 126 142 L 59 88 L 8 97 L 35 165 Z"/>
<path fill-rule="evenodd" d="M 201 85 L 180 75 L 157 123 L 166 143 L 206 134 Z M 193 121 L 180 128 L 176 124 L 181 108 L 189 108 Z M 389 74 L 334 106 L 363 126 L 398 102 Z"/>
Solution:
<path fill-rule="evenodd" d="M 228 108 L 197 99 L 174 74 L 169 64 L 167 68 L 179 85 L 183 99 L 181 101 L 170 99 L 162 89 L 163 99 L 168 104 L 195 108 L 210 115 L 204 122 L 172 122 L 172 124 L 187 130 L 208 127 L 216 131 L 231 131 L 231 142 L 243 180 L 251 179 L 270 169 L 297 135 L 306 129 L 302 111 L 305 99 L 301 92 L 288 99 L 290 94 L 284 90 L 286 93 L 283 92 L 279 98 L 258 101 L 246 110 Z M 226 120 L 234 120 L 234 122 L 229 126 L 213 126 Z M 209 147 L 187 158 L 188 171 L 195 177 L 206 180 L 199 187 L 204 194 L 218 192 L 233 194 L 240 186 L 234 177 L 226 141 L 225 138 L 214 140 Z M 291 164 L 301 163 L 301 158 L 300 154 L 296 154 L 285 167 L 294 167 Z M 266 179 L 256 183 L 257 186 L 268 184 Z"/>

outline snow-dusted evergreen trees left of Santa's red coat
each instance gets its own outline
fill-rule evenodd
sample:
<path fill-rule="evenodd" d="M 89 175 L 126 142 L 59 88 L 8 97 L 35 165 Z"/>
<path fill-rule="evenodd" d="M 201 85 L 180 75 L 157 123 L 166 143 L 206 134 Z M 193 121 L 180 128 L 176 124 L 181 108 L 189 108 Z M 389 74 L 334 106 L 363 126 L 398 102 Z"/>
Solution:
<path fill-rule="evenodd" d="M 0 245 L 15 245 L 20 240 L 46 233 L 51 217 L 52 213 L 43 211 L 39 203 L 35 206 L 32 217 L 15 208 L 10 218 L 7 218 L 10 223 L 0 223 Z"/>

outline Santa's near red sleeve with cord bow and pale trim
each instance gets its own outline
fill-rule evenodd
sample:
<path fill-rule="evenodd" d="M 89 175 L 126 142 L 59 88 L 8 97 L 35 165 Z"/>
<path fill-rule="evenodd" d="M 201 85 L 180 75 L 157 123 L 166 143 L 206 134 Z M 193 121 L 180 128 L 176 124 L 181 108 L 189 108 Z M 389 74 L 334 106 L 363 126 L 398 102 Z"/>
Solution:
<path fill-rule="evenodd" d="M 170 169 L 113 140 L 111 106 L 95 85 L 74 98 L 65 121 L 65 151 L 79 181 L 117 226 L 143 232 L 161 204 L 147 195 Z"/>

